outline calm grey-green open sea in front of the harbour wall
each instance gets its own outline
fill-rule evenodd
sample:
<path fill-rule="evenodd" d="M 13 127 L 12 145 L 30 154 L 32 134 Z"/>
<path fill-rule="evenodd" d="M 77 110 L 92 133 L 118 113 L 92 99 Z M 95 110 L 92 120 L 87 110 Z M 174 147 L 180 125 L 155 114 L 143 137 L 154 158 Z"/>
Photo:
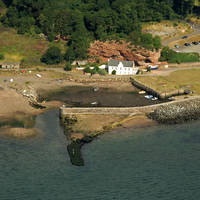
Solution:
<path fill-rule="evenodd" d="M 57 111 L 41 134 L 0 136 L 0 200 L 198 200 L 200 122 L 105 134 L 70 164 Z"/>

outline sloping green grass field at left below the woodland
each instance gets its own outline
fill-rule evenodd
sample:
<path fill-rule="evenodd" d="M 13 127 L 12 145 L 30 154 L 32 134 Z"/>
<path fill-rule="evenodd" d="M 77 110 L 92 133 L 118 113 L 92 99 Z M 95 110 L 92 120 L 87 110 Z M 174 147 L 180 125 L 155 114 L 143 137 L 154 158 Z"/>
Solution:
<path fill-rule="evenodd" d="M 5 59 L 1 62 L 22 62 L 24 66 L 44 65 L 40 62 L 42 54 L 51 45 L 58 46 L 64 52 L 64 42 L 48 42 L 28 35 L 19 35 L 16 30 L 0 25 L 0 54 Z"/>

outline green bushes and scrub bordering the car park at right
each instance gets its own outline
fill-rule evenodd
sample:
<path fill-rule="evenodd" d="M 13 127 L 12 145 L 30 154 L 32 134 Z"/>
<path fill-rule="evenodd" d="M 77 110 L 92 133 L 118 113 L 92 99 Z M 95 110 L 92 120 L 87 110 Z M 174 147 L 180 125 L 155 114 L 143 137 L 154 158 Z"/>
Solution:
<path fill-rule="evenodd" d="M 179 53 L 173 51 L 169 47 L 164 47 L 161 51 L 160 61 L 167 61 L 169 63 L 183 63 L 183 62 L 198 62 L 198 53 Z"/>

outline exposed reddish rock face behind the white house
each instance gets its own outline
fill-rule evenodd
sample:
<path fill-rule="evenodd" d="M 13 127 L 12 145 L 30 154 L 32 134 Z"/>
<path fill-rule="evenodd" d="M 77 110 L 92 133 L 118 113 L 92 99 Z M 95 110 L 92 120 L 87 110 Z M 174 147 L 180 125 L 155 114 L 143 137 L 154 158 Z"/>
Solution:
<path fill-rule="evenodd" d="M 160 51 L 149 51 L 144 48 L 136 48 L 130 43 L 124 41 L 95 41 L 90 45 L 89 55 L 91 58 L 100 58 L 101 62 L 107 62 L 108 59 L 134 60 L 139 65 L 148 63 L 157 63 L 160 57 Z"/>

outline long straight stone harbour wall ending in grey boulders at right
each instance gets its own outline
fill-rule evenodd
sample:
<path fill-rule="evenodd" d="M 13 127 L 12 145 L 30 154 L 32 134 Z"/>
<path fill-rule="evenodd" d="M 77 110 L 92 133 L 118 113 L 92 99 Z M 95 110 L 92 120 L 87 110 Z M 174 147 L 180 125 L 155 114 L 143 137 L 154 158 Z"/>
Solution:
<path fill-rule="evenodd" d="M 61 107 L 60 118 L 65 120 L 71 119 L 76 115 L 137 115 L 146 114 L 151 119 L 160 123 L 178 123 L 200 118 L 200 96 L 191 96 L 184 99 L 154 104 L 141 107 L 92 107 L 92 108 L 77 108 L 77 107 Z"/>

